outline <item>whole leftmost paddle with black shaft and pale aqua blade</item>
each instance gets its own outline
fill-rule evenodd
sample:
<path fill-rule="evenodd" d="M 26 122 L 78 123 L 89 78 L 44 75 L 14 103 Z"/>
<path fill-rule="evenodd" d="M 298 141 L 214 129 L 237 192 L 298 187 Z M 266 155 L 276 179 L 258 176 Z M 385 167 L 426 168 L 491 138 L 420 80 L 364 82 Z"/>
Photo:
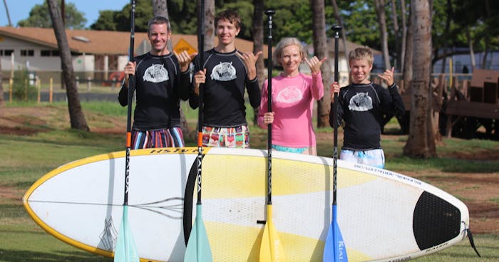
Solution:
<path fill-rule="evenodd" d="M 135 0 L 132 2 L 132 11 L 130 14 L 130 51 L 128 51 L 128 60 L 133 62 L 133 48 L 135 38 Z M 133 240 L 132 230 L 128 224 L 128 187 L 130 180 L 130 147 L 132 140 L 132 95 L 135 87 L 133 75 L 128 75 L 128 110 L 126 119 L 126 154 L 125 154 L 125 196 L 123 199 L 123 216 L 121 216 L 121 226 L 118 233 L 118 240 L 114 249 L 114 261 L 119 262 L 138 262 L 137 247 Z"/>

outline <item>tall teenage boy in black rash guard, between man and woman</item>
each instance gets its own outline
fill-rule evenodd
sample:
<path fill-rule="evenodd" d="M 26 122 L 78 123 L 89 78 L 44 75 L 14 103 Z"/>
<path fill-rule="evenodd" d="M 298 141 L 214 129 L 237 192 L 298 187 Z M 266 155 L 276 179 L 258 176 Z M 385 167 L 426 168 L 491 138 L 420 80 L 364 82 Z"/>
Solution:
<path fill-rule="evenodd" d="M 199 106 L 199 86 L 203 83 L 204 110 L 202 144 L 207 147 L 249 147 L 246 121 L 245 88 L 249 104 L 257 108 L 260 90 L 255 63 L 262 52 L 242 53 L 235 48 L 240 32 L 240 16 L 236 11 L 222 11 L 215 17 L 218 44 L 194 58 L 191 108 Z"/>

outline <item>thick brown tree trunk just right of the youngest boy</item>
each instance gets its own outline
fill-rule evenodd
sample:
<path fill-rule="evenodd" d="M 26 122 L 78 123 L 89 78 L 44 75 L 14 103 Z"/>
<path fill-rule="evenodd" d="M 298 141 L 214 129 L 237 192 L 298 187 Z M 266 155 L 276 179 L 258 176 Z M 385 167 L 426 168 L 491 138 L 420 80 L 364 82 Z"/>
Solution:
<path fill-rule="evenodd" d="M 431 0 L 411 1 L 413 31 L 413 80 L 411 81 L 411 123 L 403 154 L 436 157 L 431 118 Z"/>

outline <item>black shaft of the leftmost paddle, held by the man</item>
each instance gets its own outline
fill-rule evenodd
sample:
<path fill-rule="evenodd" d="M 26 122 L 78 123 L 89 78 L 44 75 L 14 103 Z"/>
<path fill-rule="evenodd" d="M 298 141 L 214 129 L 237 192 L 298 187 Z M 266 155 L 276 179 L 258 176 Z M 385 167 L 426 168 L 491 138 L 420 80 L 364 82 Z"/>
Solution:
<path fill-rule="evenodd" d="M 132 11 L 130 14 L 130 51 L 128 51 L 128 61 L 133 62 L 135 43 L 135 0 L 131 0 Z M 125 154 L 125 196 L 123 204 L 128 205 L 128 181 L 130 180 L 130 149 L 132 144 L 132 96 L 135 88 L 135 78 L 128 75 L 128 108 L 126 114 L 126 154 Z"/>

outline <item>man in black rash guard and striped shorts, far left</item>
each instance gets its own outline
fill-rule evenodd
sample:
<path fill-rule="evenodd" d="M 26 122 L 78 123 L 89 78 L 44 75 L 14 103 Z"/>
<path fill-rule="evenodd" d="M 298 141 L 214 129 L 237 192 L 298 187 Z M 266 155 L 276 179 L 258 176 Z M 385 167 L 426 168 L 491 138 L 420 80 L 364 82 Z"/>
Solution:
<path fill-rule="evenodd" d="M 188 69 L 192 59 L 187 51 L 174 56 L 168 50 L 170 21 L 163 16 L 149 21 L 148 38 L 151 51 L 126 64 L 127 80 L 118 95 L 120 104 L 128 105 L 128 75 L 133 75 L 137 104 L 131 148 L 183 147 L 180 99 L 187 100 L 190 95 Z"/>

